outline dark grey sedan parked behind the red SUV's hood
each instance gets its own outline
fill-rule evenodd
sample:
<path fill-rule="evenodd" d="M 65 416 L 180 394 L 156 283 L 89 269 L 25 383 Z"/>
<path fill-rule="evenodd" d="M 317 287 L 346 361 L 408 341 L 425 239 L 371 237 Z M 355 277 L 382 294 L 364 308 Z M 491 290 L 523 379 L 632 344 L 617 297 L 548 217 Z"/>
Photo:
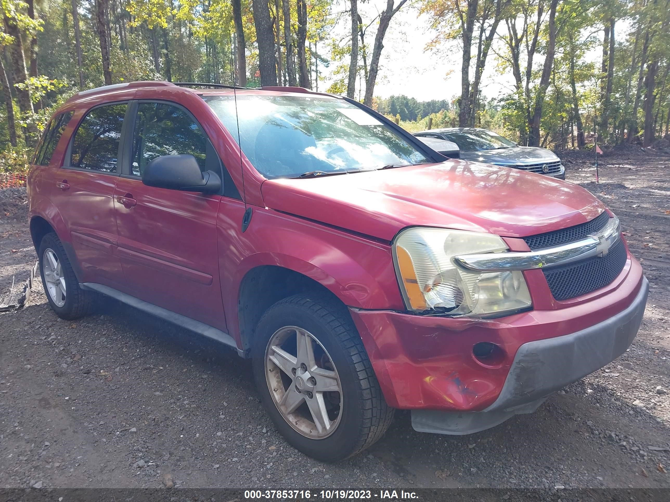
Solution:
<path fill-rule="evenodd" d="M 456 143 L 460 158 L 468 161 L 504 165 L 565 179 L 565 167 L 556 154 L 545 148 L 519 147 L 493 131 L 476 127 L 450 127 L 414 133 L 421 139 L 434 138 Z"/>

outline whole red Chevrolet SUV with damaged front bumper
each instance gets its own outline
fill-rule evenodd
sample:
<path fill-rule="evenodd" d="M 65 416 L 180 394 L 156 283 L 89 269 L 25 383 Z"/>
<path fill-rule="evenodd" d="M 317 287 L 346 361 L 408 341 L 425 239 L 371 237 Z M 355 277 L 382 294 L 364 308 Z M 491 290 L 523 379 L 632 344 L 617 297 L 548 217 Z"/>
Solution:
<path fill-rule="evenodd" d="M 373 444 L 396 408 L 440 434 L 532 412 L 623 353 L 647 301 L 585 189 L 446 159 L 302 88 L 80 92 L 27 186 L 56 314 L 113 297 L 234 347 L 322 461 Z"/>

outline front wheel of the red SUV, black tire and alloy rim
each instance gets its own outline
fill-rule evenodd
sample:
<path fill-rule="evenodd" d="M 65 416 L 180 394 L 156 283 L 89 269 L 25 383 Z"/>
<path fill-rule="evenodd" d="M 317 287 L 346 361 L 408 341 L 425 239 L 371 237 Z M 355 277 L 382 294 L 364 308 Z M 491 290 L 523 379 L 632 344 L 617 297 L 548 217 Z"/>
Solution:
<path fill-rule="evenodd" d="M 261 317 L 252 348 L 261 401 L 297 450 L 336 462 L 374 444 L 395 410 L 342 305 L 295 295 Z"/>

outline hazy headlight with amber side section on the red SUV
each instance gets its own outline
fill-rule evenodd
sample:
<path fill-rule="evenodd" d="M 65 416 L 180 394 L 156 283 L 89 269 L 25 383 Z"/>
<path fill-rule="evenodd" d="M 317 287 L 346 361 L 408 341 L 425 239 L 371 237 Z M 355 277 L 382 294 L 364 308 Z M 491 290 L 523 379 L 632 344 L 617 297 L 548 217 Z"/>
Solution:
<path fill-rule="evenodd" d="M 454 264 L 459 254 L 505 252 L 492 234 L 407 228 L 393 243 L 393 260 L 405 304 L 417 313 L 491 315 L 531 306 L 531 295 L 519 270 L 478 273 Z"/>

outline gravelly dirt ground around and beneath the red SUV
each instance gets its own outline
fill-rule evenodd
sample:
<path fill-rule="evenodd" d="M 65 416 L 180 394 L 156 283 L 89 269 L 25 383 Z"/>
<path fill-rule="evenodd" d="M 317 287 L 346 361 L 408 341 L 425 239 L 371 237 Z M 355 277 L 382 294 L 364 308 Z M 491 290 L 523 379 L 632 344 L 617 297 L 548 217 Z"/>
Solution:
<path fill-rule="evenodd" d="M 436 436 L 399 412 L 364 454 L 318 463 L 277 434 L 248 361 L 114 301 L 62 321 L 38 280 L 0 314 L 0 487 L 670 487 L 670 157 L 606 152 L 600 184 L 590 155 L 561 157 L 622 221 L 651 293 L 632 347 L 535 414 Z M 4 291 L 36 255 L 25 192 L 0 209 Z"/>

